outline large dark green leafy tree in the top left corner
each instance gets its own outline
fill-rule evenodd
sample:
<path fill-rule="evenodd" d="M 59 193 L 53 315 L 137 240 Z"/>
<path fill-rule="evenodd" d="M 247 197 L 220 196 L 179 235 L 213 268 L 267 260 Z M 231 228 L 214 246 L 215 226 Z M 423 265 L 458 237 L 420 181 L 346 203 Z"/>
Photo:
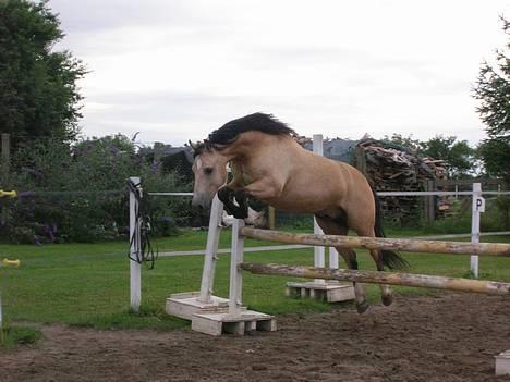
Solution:
<path fill-rule="evenodd" d="M 78 133 L 76 82 L 86 70 L 71 52 L 52 51 L 64 35 L 47 3 L 0 1 L 0 131 L 64 141 Z"/>

